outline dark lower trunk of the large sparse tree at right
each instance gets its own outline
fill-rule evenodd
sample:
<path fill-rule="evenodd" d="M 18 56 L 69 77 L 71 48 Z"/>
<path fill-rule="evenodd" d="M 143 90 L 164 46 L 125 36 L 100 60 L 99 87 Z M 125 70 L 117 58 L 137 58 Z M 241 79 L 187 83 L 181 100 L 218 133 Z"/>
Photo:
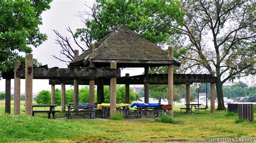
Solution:
<path fill-rule="evenodd" d="M 218 108 L 217 110 L 226 110 L 224 105 L 224 99 L 223 99 L 223 90 L 222 90 L 222 83 L 220 81 L 220 77 L 218 77 L 218 83 L 216 84 L 216 90 L 217 90 L 217 96 L 218 96 Z"/>

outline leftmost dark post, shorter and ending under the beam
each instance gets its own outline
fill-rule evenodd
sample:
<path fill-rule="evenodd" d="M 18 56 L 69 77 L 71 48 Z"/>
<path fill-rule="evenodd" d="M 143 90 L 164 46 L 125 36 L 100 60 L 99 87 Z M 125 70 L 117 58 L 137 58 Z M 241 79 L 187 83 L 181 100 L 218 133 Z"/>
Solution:
<path fill-rule="evenodd" d="M 5 79 L 5 113 L 11 113 L 11 79 Z"/>

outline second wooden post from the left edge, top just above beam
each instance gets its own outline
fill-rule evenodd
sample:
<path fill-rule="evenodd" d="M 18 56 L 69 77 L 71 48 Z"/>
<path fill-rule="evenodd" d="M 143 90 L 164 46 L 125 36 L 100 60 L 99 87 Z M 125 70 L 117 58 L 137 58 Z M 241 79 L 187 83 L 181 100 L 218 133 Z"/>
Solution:
<path fill-rule="evenodd" d="M 21 61 L 15 61 L 14 68 L 14 115 L 21 113 L 21 78 L 17 77 L 16 71 L 21 67 Z"/>

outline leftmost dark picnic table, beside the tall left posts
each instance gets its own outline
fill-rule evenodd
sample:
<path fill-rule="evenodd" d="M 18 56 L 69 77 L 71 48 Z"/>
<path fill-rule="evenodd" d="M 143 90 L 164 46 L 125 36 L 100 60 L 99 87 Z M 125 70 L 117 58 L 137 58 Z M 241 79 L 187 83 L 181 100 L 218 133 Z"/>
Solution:
<path fill-rule="evenodd" d="M 51 105 L 32 105 L 32 116 L 35 116 L 36 113 L 48 113 L 48 118 L 51 118 L 51 113 L 52 113 L 52 119 L 55 119 L 55 113 L 60 112 L 56 111 L 55 107 L 58 106 L 57 104 L 51 104 Z M 49 110 L 34 110 L 33 108 L 38 108 L 38 107 L 49 107 Z"/>

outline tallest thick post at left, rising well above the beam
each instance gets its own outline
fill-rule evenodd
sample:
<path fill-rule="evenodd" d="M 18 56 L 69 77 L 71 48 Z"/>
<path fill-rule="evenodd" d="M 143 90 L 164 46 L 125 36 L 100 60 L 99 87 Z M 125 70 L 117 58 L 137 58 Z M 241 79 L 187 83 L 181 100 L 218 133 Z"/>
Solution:
<path fill-rule="evenodd" d="M 26 54 L 25 62 L 25 115 L 32 115 L 33 54 Z"/>

